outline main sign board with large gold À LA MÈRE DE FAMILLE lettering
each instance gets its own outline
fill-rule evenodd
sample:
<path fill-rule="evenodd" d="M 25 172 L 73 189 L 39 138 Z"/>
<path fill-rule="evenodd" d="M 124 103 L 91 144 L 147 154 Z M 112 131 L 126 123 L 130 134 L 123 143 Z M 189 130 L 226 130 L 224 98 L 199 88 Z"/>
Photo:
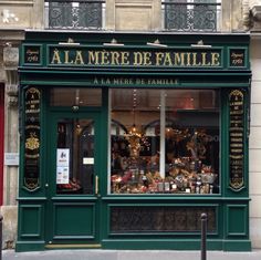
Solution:
<path fill-rule="evenodd" d="M 221 51 L 210 50 L 90 50 L 50 48 L 49 65 L 219 67 Z"/>

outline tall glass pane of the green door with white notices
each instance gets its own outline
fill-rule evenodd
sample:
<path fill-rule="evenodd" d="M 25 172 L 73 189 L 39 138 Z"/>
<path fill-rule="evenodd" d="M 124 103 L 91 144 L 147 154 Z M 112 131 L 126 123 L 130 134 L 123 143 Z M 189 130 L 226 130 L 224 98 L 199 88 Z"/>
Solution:
<path fill-rule="evenodd" d="M 64 118 L 58 123 L 56 193 L 93 194 L 94 123 Z"/>

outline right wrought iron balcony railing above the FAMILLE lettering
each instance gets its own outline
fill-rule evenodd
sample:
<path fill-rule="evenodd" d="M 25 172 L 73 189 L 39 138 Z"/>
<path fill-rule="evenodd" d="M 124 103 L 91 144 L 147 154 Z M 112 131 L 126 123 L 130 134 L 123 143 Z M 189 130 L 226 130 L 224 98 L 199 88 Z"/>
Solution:
<path fill-rule="evenodd" d="M 161 6 L 165 30 L 220 31 L 221 0 L 165 0 Z"/>

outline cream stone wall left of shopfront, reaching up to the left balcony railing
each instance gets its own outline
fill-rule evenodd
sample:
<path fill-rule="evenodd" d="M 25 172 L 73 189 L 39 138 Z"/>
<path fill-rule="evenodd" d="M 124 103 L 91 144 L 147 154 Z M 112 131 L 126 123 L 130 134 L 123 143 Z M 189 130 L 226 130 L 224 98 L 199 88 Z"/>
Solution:
<path fill-rule="evenodd" d="M 18 59 L 12 55 L 12 52 L 4 54 L 3 50 L 9 46 L 18 48 L 25 28 L 43 28 L 43 6 L 44 1 L 39 0 L 0 0 L 0 91 L 2 91 L 3 96 L 1 97 L 4 101 L 0 103 L 3 113 L 0 118 L 4 118 L 4 125 L 0 126 L 3 129 L 3 137 L 0 137 L 0 156 L 3 156 L 4 153 L 17 153 L 19 147 Z M 3 216 L 3 248 L 13 247 L 17 237 L 18 171 L 18 166 L 0 163 L 0 214 Z"/>

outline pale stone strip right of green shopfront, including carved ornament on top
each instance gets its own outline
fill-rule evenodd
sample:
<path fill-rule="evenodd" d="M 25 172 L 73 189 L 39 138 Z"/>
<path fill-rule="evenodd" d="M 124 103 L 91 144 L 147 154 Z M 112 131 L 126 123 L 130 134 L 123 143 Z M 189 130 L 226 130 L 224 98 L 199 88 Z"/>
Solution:
<path fill-rule="evenodd" d="M 261 187 L 259 179 L 261 178 L 261 165 L 259 156 L 261 153 L 260 146 L 260 66 L 261 66 L 261 1 L 250 0 L 244 1 L 247 20 L 249 18 L 249 31 L 251 35 L 250 61 L 252 66 L 252 94 L 251 94 L 251 122 L 250 122 L 250 232 L 253 241 L 253 247 L 260 248 L 261 243 L 261 210 L 257 207 L 261 202 Z M 249 10 L 249 12 L 248 12 Z M 248 17 L 249 14 L 249 17 Z M 246 19 L 244 19 L 246 20 Z"/>

